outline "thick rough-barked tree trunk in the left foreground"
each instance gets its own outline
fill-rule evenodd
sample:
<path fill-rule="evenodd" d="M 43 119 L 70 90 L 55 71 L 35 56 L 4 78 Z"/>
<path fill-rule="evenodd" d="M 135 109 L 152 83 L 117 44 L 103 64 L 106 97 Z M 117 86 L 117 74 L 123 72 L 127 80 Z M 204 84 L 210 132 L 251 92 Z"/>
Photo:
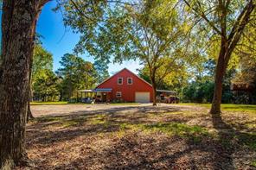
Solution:
<path fill-rule="evenodd" d="M 36 20 L 43 3 L 35 0 L 3 0 L 0 169 L 28 163 L 24 144 L 29 65 L 33 55 Z"/>

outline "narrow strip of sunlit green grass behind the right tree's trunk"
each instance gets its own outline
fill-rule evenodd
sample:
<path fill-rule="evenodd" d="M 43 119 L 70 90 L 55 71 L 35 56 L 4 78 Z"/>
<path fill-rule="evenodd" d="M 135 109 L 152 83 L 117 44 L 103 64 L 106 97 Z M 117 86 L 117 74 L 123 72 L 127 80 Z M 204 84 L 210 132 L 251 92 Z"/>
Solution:
<path fill-rule="evenodd" d="M 211 104 L 182 103 L 179 105 L 202 106 L 208 109 L 211 107 Z M 221 104 L 221 109 L 228 111 L 250 111 L 256 113 L 256 105 L 254 104 Z"/>

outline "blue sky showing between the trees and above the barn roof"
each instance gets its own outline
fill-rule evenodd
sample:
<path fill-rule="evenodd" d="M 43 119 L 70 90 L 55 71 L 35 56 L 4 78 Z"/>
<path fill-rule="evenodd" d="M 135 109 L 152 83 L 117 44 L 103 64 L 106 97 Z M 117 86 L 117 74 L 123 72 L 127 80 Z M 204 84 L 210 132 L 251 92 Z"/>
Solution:
<path fill-rule="evenodd" d="M 55 2 L 47 3 L 42 9 L 39 17 L 36 32 L 42 35 L 42 45 L 54 55 L 54 70 L 60 67 L 60 60 L 63 54 L 73 53 L 75 44 L 79 41 L 80 35 L 74 34 L 71 28 L 65 28 L 62 22 L 61 12 L 54 12 Z M 93 62 L 93 57 L 88 54 L 80 55 L 84 60 Z M 109 73 L 118 72 L 122 68 L 128 68 L 136 72 L 138 61 L 125 61 L 124 64 L 110 64 Z"/>

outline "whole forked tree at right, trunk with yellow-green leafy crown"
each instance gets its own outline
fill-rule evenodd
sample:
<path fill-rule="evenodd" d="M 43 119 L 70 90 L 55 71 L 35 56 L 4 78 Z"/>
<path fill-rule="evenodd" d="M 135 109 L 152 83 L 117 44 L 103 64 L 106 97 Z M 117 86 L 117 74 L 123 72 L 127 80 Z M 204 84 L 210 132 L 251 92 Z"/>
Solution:
<path fill-rule="evenodd" d="M 200 27 L 207 31 L 207 40 L 217 38 L 219 54 L 215 71 L 214 98 L 210 113 L 214 117 L 221 117 L 222 83 L 228 62 L 241 37 L 246 32 L 248 23 L 255 20 L 255 2 L 249 1 L 187 1 L 191 21 L 200 22 Z M 195 20 L 193 20 L 193 18 Z"/>

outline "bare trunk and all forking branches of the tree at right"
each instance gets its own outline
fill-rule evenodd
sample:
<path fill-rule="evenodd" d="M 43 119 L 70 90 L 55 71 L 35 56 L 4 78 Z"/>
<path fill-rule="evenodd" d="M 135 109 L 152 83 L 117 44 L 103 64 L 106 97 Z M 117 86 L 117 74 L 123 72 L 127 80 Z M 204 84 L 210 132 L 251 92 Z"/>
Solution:
<path fill-rule="evenodd" d="M 208 25 L 214 30 L 214 32 L 217 33 L 217 35 L 221 36 L 221 51 L 219 54 L 218 63 L 215 70 L 214 98 L 210 110 L 210 113 L 213 116 L 221 117 L 222 81 L 226 72 L 227 64 L 228 61 L 230 60 L 231 54 L 234 52 L 234 48 L 240 41 L 240 37 L 246 27 L 246 24 L 250 22 L 250 19 L 252 19 L 251 16 L 253 14 L 253 10 L 256 7 L 256 4 L 254 0 L 247 1 L 246 6 L 240 10 L 240 14 L 237 16 L 234 25 L 228 26 L 232 27 L 231 31 L 227 31 L 227 11 L 229 9 L 228 5 L 230 3 L 226 3 L 226 5 L 223 5 L 224 3 L 219 3 L 218 10 L 219 12 L 221 12 L 221 15 L 219 14 L 218 19 L 221 21 L 221 25 L 216 27 L 215 23 L 217 22 L 210 21 L 208 16 L 206 16 L 200 8 L 194 8 L 192 6 L 192 3 L 189 3 L 189 1 L 183 1 L 189 6 L 189 8 L 195 11 L 195 14 L 197 16 L 202 17 L 202 19 L 208 23 Z M 200 6 L 200 1 L 197 1 L 197 4 L 199 4 Z"/>

